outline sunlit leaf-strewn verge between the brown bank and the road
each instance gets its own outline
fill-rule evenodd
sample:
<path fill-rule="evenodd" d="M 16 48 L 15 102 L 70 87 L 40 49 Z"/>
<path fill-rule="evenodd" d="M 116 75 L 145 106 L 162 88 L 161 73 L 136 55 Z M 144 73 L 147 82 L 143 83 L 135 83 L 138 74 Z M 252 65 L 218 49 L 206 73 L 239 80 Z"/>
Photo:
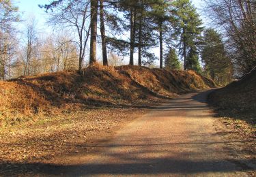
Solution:
<path fill-rule="evenodd" d="M 29 166 L 20 164 L 90 152 L 99 139 L 111 138 L 114 131 L 145 112 L 133 108 L 92 108 L 5 127 L 0 130 L 0 176 L 29 170 Z M 87 144 L 91 147 L 87 148 Z"/>

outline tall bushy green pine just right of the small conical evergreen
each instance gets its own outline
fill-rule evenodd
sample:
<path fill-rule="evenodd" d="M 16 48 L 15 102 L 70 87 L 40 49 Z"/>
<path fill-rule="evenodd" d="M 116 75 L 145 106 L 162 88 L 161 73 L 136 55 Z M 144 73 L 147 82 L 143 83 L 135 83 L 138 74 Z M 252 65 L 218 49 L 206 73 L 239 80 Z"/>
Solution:
<path fill-rule="evenodd" d="M 199 14 L 190 0 L 173 2 L 175 14 L 175 31 L 179 37 L 180 53 L 184 59 L 184 69 L 200 71 L 199 44 L 203 27 Z"/>

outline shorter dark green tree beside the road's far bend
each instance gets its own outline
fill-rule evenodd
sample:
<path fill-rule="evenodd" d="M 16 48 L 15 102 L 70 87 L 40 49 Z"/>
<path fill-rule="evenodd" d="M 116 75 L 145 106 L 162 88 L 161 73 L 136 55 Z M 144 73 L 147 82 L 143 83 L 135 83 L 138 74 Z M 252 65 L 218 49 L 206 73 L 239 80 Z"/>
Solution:
<path fill-rule="evenodd" d="M 214 29 L 206 29 L 204 32 L 201 58 L 206 76 L 210 76 L 218 84 L 231 82 L 232 63 L 225 51 L 221 35 Z"/>

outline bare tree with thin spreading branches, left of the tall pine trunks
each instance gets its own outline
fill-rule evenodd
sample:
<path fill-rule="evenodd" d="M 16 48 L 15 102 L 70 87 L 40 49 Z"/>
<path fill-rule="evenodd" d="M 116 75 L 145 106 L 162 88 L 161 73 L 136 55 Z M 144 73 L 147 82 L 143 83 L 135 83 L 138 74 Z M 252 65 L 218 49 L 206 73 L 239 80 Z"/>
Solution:
<path fill-rule="evenodd" d="M 60 1 L 59 4 L 49 13 L 51 18 L 48 23 L 54 27 L 61 27 L 72 31 L 74 39 L 68 42 L 74 42 L 79 50 L 79 71 L 83 67 L 85 59 L 85 50 L 89 39 L 89 0 L 88 1 Z"/>

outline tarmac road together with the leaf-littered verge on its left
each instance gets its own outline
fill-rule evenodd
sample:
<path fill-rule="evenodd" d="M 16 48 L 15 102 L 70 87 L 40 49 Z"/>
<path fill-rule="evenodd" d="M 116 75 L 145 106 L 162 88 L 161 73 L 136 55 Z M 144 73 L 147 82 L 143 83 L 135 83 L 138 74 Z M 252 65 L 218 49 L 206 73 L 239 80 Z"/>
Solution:
<path fill-rule="evenodd" d="M 255 139 L 214 118 L 208 93 L 6 128 L 0 175 L 254 176 Z"/>

